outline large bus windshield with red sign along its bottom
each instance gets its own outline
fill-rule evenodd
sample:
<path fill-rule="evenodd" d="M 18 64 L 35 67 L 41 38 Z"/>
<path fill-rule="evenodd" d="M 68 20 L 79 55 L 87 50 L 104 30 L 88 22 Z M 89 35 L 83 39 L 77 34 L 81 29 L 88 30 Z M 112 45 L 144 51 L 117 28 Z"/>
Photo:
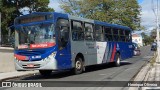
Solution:
<path fill-rule="evenodd" d="M 18 49 L 43 48 L 55 44 L 54 24 L 38 24 L 16 28 Z"/>

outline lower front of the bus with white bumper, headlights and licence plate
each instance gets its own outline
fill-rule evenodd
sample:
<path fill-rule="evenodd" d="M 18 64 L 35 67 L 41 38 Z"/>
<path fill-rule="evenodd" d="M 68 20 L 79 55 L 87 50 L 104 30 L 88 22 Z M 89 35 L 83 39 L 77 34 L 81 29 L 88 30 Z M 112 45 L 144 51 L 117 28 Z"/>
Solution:
<path fill-rule="evenodd" d="M 57 60 L 52 55 L 56 51 L 56 46 L 48 49 L 36 50 L 15 50 L 14 62 L 16 70 L 58 70 Z M 19 60 L 19 59 L 22 60 Z M 34 65 L 28 67 L 28 65 Z"/>

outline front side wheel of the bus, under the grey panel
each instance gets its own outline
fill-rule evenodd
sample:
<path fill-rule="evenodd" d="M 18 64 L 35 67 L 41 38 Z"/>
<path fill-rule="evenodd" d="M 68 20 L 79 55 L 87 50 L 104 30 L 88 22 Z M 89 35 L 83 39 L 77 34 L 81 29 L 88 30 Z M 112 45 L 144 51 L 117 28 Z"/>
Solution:
<path fill-rule="evenodd" d="M 76 57 L 75 59 L 75 67 L 74 74 L 81 74 L 84 70 L 84 64 L 81 57 Z"/>

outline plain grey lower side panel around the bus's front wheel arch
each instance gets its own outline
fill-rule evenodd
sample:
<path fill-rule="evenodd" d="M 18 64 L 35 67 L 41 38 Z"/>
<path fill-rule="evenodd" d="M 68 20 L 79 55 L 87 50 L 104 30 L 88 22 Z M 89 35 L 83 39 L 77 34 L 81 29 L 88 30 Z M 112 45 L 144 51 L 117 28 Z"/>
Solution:
<path fill-rule="evenodd" d="M 79 53 L 81 53 L 84 57 L 85 66 L 97 64 L 97 53 L 94 47 L 95 42 L 72 41 L 71 46 L 72 46 L 71 52 L 72 52 L 73 67 L 74 67 L 75 58 Z"/>

